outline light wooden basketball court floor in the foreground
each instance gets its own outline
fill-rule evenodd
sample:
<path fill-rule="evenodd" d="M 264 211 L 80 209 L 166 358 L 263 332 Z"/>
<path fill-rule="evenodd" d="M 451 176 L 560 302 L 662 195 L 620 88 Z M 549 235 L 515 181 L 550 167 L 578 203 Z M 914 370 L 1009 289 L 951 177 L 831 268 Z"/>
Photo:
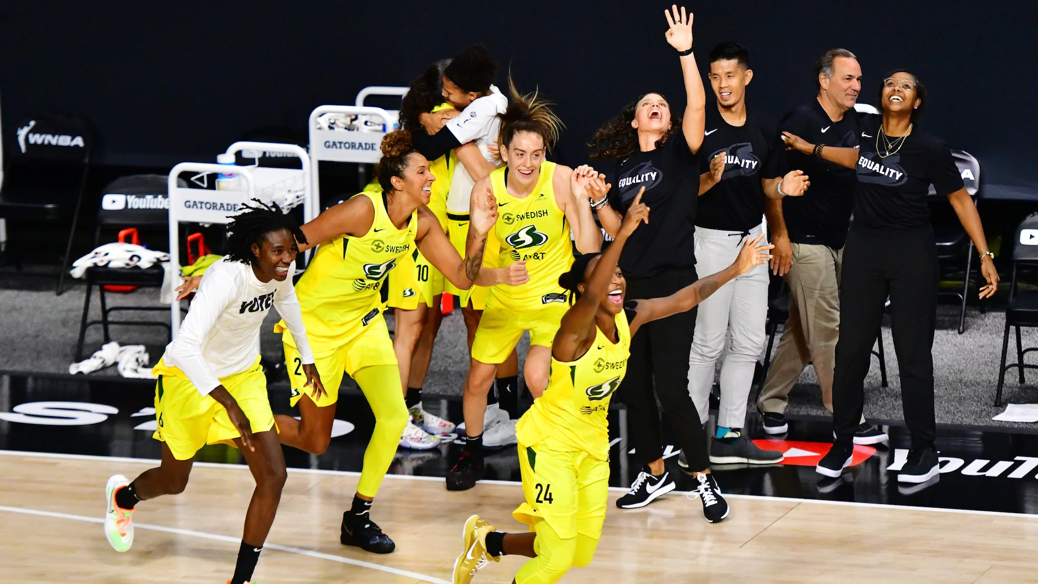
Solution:
<path fill-rule="evenodd" d="M 187 491 L 138 506 L 134 547 L 102 532 L 108 476 L 154 461 L 0 451 L 0 582 L 224 582 L 234 569 L 252 478 L 244 466 L 197 463 Z M 357 473 L 289 469 L 255 579 L 263 584 L 450 581 L 461 527 L 480 513 L 507 531 L 517 483 L 449 493 L 442 478 L 389 475 L 373 518 L 397 541 L 386 556 L 342 546 Z M 610 503 L 622 490 L 610 492 Z M 610 505 L 591 565 L 564 582 L 1038 582 L 1038 517 L 807 499 L 730 496 L 731 516 L 703 520 L 683 494 L 636 510 Z M 511 582 L 524 558 L 473 580 Z"/>

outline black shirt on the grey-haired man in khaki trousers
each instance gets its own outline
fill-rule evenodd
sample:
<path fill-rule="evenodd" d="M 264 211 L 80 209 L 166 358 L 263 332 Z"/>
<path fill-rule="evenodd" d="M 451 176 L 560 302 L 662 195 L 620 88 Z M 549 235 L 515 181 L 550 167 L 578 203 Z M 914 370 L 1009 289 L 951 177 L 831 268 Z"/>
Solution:
<path fill-rule="evenodd" d="M 851 109 L 839 121 L 832 121 L 818 100 L 812 99 L 786 114 L 778 128 L 812 144 L 854 148 L 862 133 L 859 116 Z M 797 150 L 786 150 L 786 160 L 790 168 L 802 170 L 811 179 L 802 197 L 786 197 L 782 201 L 789 241 L 843 248 L 857 188 L 854 171 Z"/>

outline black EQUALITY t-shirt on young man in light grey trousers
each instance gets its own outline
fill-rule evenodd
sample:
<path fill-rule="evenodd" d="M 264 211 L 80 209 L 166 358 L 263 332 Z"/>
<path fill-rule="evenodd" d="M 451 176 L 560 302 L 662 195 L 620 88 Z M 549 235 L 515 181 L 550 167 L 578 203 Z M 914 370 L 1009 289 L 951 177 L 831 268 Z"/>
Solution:
<path fill-rule="evenodd" d="M 695 225 L 748 231 L 761 224 L 764 215 L 761 179 L 776 178 L 789 171 L 778 127 L 752 110 L 746 111 L 745 123 L 731 126 L 713 105 L 707 106 L 706 123 L 700 172 L 709 172 L 710 161 L 722 151 L 728 152 L 728 162 L 720 183 L 700 197 Z"/>

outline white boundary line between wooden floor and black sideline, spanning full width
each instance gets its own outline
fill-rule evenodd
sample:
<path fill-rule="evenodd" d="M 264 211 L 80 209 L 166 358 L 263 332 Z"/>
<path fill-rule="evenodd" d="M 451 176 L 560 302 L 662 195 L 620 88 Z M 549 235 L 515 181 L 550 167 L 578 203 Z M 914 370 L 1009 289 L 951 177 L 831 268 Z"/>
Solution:
<path fill-rule="evenodd" d="M 38 458 L 69 458 L 78 461 L 115 461 L 120 463 L 132 463 L 132 464 L 145 464 L 145 465 L 157 465 L 161 461 L 157 458 L 134 458 L 128 456 L 101 456 L 98 454 L 64 454 L 60 452 L 32 452 L 27 450 L 0 450 L 0 455 L 7 456 L 30 456 Z M 239 468 L 248 470 L 247 465 L 240 465 L 236 463 L 195 463 L 195 466 L 200 466 L 202 468 Z M 288 467 L 290 473 L 302 473 L 302 474 L 327 474 L 327 475 L 337 475 L 337 476 L 360 476 L 357 471 L 336 471 L 329 469 L 300 469 Z M 425 480 L 425 481 L 436 481 L 442 482 L 443 477 L 441 476 L 422 476 L 422 475 L 411 475 L 411 474 L 386 474 L 386 478 L 392 478 L 397 480 Z M 521 482 L 516 480 L 496 480 L 496 479 L 483 479 L 480 483 L 484 484 L 503 484 L 511 486 L 521 486 Z M 616 493 L 627 493 L 630 489 L 624 486 L 610 486 L 609 491 Z M 675 495 L 689 495 L 694 494 L 694 491 L 672 491 L 671 493 Z M 931 512 L 944 512 L 944 513 L 960 513 L 960 515 L 975 515 L 975 516 L 988 516 L 988 517 L 1007 517 L 1007 518 L 1023 518 L 1023 519 L 1038 519 L 1036 513 L 1016 513 L 1011 511 L 984 511 L 979 509 L 954 509 L 951 507 L 921 507 L 916 505 L 894 505 L 891 503 L 869 503 L 865 501 L 830 501 L 826 499 L 804 499 L 796 497 L 773 497 L 770 495 L 739 495 L 735 493 L 722 493 L 726 499 L 747 499 L 747 500 L 761 500 L 761 501 L 778 501 L 778 502 L 789 502 L 789 503 L 812 503 L 819 505 L 842 505 L 847 507 L 868 507 L 868 508 L 880 508 L 880 509 L 900 509 L 900 510 L 910 510 L 910 511 L 931 511 Z M 316 552 L 317 553 L 317 552 Z M 340 556 L 336 556 L 340 557 Z M 377 564 L 376 564 L 377 565 Z"/>

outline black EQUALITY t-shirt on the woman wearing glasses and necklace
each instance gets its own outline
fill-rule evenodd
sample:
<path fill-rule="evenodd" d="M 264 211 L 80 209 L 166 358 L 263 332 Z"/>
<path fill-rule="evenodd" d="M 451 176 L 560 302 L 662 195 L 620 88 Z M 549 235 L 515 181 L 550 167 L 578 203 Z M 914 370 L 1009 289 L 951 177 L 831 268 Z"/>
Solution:
<path fill-rule="evenodd" d="M 900 148 L 892 149 L 895 154 L 880 157 L 876 152 L 876 139 L 881 123 L 882 117 L 878 114 L 862 116 L 854 224 L 873 229 L 925 225 L 930 221 L 926 204 L 930 185 L 941 197 L 962 188 L 955 159 L 944 140 L 919 128 L 912 128 Z M 879 138 L 879 149 L 886 152 L 882 138 Z"/>

